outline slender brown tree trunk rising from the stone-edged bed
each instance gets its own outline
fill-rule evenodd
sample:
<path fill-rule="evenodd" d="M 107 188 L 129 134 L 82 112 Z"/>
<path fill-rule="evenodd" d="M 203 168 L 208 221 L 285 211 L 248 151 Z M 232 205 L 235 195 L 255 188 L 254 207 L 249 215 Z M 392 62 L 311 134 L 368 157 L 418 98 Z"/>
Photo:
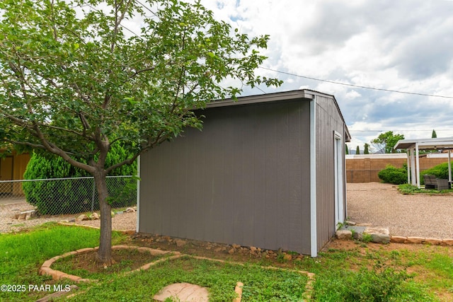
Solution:
<path fill-rule="evenodd" d="M 98 190 L 99 206 L 101 207 L 101 238 L 99 240 L 98 265 L 109 266 L 114 263 L 112 258 L 112 207 L 108 203 L 105 173 L 96 173 L 94 181 Z"/>

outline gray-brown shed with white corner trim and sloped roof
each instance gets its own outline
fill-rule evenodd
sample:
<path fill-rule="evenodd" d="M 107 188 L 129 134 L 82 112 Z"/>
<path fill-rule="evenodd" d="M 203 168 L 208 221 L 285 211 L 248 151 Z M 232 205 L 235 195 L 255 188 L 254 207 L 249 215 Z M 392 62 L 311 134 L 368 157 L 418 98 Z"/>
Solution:
<path fill-rule="evenodd" d="M 144 153 L 137 231 L 316 257 L 345 220 L 345 142 L 333 95 L 219 100 L 202 131 Z"/>

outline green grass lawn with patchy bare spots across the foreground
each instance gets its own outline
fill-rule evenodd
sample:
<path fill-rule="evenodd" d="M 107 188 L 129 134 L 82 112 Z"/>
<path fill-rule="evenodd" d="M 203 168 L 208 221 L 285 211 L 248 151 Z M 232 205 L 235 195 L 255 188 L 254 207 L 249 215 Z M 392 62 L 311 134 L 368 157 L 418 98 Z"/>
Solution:
<path fill-rule="evenodd" d="M 30 284 L 61 285 L 38 276 L 45 260 L 64 252 L 98 245 L 99 231 L 47 223 L 21 233 L 0 235 L 0 284 L 25 286 L 25 291 L 0 291 L 0 301 L 35 301 L 52 291 L 33 291 Z M 127 236 L 114 233 L 115 244 L 127 243 Z M 334 242 L 335 243 L 335 242 Z M 162 287 L 176 282 L 206 286 L 210 301 L 231 301 L 234 285 L 243 282 L 242 301 L 304 301 L 305 274 L 266 269 L 277 265 L 316 274 L 314 301 L 452 301 L 453 248 L 429 245 L 365 245 L 350 241 L 322 252 L 317 258 L 302 260 L 251 260 L 244 265 L 181 257 L 166 260 L 146 271 L 100 275 L 88 271 L 77 274 L 98 279 L 78 284 L 72 298 L 61 301 L 151 301 Z M 227 257 L 227 256 L 226 256 Z M 55 262 L 67 265 L 64 262 Z M 52 268 L 55 268 L 52 265 Z M 125 262 L 125 264 L 127 263 Z M 71 273 L 71 267 L 65 267 Z"/>

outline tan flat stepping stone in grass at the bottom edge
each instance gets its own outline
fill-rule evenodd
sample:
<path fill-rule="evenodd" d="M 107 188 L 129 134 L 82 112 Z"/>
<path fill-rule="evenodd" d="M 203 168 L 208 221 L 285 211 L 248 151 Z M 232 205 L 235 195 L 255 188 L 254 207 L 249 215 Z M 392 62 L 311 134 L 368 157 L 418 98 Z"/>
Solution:
<path fill-rule="evenodd" d="M 153 298 L 165 301 L 166 298 L 176 298 L 180 302 L 207 302 L 209 293 L 205 287 L 190 283 L 175 283 L 165 286 Z"/>

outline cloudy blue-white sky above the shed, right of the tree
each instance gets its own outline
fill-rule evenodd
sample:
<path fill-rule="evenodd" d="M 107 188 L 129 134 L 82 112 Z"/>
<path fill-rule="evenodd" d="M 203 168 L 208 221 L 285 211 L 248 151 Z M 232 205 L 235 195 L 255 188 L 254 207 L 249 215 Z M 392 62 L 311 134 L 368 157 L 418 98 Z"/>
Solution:
<path fill-rule="evenodd" d="M 435 129 L 437 137 L 453 137 L 453 1 L 201 3 L 241 33 L 270 35 L 257 73 L 285 83 L 243 95 L 304 88 L 335 95 L 353 150 L 387 131 L 418 139 Z"/>

